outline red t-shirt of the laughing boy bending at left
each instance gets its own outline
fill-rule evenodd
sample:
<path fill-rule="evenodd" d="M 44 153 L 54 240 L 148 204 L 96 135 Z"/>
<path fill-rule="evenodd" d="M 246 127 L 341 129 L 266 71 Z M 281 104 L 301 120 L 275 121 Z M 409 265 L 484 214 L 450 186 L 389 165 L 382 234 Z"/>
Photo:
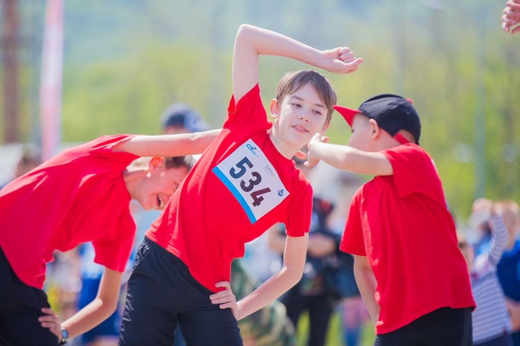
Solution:
<path fill-rule="evenodd" d="M 112 147 L 134 136 L 102 136 L 64 150 L 0 190 L 0 247 L 22 282 L 43 288 L 53 251 L 88 241 L 96 263 L 124 271 L 135 222 L 122 172 L 138 156 Z"/>

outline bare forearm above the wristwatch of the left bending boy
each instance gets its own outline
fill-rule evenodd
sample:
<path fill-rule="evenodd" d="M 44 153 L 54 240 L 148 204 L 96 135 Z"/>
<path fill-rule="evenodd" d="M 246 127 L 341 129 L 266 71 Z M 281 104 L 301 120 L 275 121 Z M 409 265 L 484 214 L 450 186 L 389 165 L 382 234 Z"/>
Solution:
<path fill-rule="evenodd" d="M 61 323 L 61 327 L 67 329 L 70 338 L 76 337 L 108 319 L 116 308 L 117 301 L 107 303 L 96 298 L 86 307 Z"/>

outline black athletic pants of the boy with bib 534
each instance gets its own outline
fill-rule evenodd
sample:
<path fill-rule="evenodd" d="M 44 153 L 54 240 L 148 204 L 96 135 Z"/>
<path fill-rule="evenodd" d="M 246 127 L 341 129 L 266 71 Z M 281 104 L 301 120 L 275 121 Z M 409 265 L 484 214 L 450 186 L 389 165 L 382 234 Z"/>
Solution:
<path fill-rule="evenodd" d="M 177 323 L 187 345 L 242 345 L 235 316 L 212 304 L 212 294 L 183 261 L 145 238 L 128 281 L 119 345 L 171 346 Z"/>

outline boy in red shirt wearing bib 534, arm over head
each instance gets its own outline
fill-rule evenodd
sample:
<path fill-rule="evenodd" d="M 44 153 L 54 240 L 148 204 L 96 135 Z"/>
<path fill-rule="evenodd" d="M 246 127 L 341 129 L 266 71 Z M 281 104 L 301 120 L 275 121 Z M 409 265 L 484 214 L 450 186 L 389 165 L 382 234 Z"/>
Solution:
<path fill-rule="evenodd" d="M 292 157 L 314 133 L 327 129 L 336 95 L 317 72 L 289 73 L 269 106 L 273 125 L 258 88 L 262 54 L 337 73 L 353 72 L 361 63 L 348 48 L 319 51 L 240 26 L 224 128 L 145 233 L 128 281 L 120 344 L 169 346 L 177 323 L 189 344 L 242 344 L 237 319 L 266 306 L 302 276 L 312 190 Z M 282 269 L 238 303 L 220 306 L 231 309 L 212 306 L 223 302 L 215 282 L 229 281 L 231 260 L 278 222 L 288 234 Z"/>

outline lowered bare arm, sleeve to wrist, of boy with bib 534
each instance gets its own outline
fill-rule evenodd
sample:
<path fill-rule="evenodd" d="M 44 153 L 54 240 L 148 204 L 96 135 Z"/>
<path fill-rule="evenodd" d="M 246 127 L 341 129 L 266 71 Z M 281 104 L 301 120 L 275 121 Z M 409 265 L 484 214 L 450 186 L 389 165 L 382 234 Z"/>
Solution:
<path fill-rule="evenodd" d="M 260 287 L 237 302 L 237 320 L 262 309 L 302 279 L 309 233 L 303 237 L 287 237 L 282 268 Z"/>

